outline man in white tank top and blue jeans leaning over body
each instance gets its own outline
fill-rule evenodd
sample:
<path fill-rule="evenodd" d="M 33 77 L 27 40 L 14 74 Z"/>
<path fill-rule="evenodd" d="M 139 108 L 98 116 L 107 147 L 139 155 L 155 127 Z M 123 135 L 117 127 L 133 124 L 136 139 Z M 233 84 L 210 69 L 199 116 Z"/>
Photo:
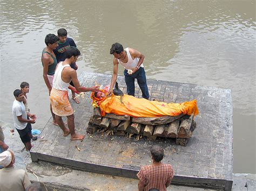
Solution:
<path fill-rule="evenodd" d="M 137 79 L 139 88 L 142 90 L 142 97 L 149 100 L 149 89 L 147 88 L 146 74 L 142 64 L 145 56 L 133 48 L 123 48 L 119 43 L 112 44 L 110 54 L 113 54 L 113 75 L 109 90 L 109 95 L 113 92 L 114 84 L 117 81 L 118 64 L 124 66 L 124 77 L 127 86 L 127 94 L 134 96 L 134 80 Z M 130 73 L 128 70 L 132 71 Z"/>

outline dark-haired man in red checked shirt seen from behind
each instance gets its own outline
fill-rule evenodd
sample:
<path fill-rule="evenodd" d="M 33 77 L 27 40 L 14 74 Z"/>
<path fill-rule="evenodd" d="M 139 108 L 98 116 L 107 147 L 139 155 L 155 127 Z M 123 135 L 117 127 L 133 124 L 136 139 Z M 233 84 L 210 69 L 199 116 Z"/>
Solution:
<path fill-rule="evenodd" d="M 159 146 L 153 146 L 150 149 L 153 163 L 143 166 L 137 174 L 139 191 L 157 189 L 166 190 L 173 179 L 174 171 L 172 165 L 163 164 L 164 149 Z"/>

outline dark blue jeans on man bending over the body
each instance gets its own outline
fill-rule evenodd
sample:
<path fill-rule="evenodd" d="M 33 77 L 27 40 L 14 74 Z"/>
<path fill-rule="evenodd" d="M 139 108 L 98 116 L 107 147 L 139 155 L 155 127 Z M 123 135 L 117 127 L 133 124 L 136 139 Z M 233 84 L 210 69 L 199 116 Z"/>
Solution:
<path fill-rule="evenodd" d="M 127 69 L 124 69 L 124 79 L 127 86 L 127 94 L 134 96 L 135 85 L 134 80 L 137 79 L 139 88 L 142 90 L 142 97 L 149 100 L 149 89 L 147 88 L 146 73 L 144 68 L 140 67 L 136 73 L 128 74 Z"/>

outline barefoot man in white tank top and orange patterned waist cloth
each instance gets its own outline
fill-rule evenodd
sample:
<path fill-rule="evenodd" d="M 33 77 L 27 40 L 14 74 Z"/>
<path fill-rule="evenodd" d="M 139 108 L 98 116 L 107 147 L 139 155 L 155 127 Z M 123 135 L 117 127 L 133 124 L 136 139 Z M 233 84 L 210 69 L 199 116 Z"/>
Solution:
<path fill-rule="evenodd" d="M 86 88 L 80 86 L 77 79 L 76 70 L 71 68 L 70 65 L 77 61 L 80 51 L 76 47 L 69 47 L 66 51 L 66 59 L 63 62 L 59 62 L 53 78 L 53 87 L 51 90 L 50 101 L 52 104 L 52 111 L 56 116 L 56 121 L 63 131 L 63 136 L 68 136 L 71 133 L 71 140 L 84 139 L 84 135 L 79 135 L 75 132 L 74 114 L 71 104 L 69 102 L 68 88 L 69 83 L 72 80 L 75 88 L 78 91 L 97 91 L 98 86 Z M 68 118 L 67 129 L 63 123 L 62 117 Z"/>

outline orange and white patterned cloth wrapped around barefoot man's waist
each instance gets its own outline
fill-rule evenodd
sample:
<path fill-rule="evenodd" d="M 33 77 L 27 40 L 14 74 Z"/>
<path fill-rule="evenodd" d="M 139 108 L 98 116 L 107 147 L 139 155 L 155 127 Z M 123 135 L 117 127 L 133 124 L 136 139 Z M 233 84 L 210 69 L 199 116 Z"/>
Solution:
<path fill-rule="evenodd" d="M 57 116 L 70 116 L 73 114 L 73 109 L 69 102 L 68 91 L 52 88 L 50 101 L 53 114 Z"/>

